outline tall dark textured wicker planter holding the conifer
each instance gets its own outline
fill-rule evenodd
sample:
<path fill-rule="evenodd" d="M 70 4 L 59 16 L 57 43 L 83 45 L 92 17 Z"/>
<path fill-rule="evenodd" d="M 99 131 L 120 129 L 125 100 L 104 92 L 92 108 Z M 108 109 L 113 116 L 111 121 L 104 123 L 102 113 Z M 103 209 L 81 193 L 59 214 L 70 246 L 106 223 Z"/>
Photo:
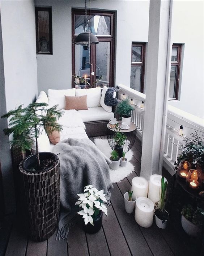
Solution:
<path fill-rule="evenodd" d="M 39 154 L 40 160 L 54 155 L 55 164 L 38 172 L 25 170 L 26 161 L 29 162 L 35 158 L 35 155 L 31 155 L 22 160 L 19 165 L 23 190 L 22 214 L 25 217 L 29 238 L 38 242 L 48 239 L 55 232 L 60 206 L 59 158 L 50 152 Z"/>

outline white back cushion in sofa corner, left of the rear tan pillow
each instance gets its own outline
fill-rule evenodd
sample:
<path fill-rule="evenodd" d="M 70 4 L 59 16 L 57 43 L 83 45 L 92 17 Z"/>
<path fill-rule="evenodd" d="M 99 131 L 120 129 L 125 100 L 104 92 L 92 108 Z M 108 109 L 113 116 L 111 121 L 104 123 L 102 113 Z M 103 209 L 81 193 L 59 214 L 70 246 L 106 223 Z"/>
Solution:
<path fill-rule="evenodd" d="M 65 95 L 66 96 L 75 96 L 75 88 L 67 89 L 67 90 L 52 90 L 49 89 L 47 91 L 49 107 L 53 107 L 55 105 L 59 105 L 59 109 L 65 108 Z"/>

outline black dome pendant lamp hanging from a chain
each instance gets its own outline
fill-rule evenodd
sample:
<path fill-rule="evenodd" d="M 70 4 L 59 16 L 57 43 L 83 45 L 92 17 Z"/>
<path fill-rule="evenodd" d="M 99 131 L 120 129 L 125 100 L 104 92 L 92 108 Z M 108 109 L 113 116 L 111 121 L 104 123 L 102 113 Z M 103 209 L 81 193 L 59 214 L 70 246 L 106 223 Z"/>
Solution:
<path fill-rule="evenodd" d="M 90 12 L 90 10 L 89 10 Z M 90 17 L 90 15 L 89 15 Z M 89 20 L 90 22 L 90 20 Z M 85 0 L 85 18 L 84 18 L 84 32 L 78 34 L 74 40 L 74 44 L 82 45 L 85 49 L 88 49 L 91 44 L 99 44 L 98 38 L 90 32 L 87 32 L 87 8 Z"/>

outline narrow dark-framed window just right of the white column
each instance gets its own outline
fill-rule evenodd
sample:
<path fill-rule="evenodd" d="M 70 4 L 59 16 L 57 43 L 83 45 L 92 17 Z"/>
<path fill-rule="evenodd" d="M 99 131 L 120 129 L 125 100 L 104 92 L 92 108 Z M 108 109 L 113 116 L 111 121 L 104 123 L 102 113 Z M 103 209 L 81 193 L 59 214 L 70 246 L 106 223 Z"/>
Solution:
<path fill-rule="evenodd" d="M 172 46 L 169 100 L 178 99 L 181 46 L 181 44 Z"/>

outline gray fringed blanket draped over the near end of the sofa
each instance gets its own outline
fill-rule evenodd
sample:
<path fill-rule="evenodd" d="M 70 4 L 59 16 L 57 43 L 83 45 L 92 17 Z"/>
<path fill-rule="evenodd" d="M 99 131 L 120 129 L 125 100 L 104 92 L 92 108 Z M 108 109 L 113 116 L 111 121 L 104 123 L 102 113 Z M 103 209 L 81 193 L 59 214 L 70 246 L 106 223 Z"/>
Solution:
<path fill-rule="evenodd" d="M 67 139 L 55 145 L 53 153 L 60 159 L 60 215 L 57 239 L 68 239 L 68 232 L 76 212 L 77 194 L 93 185 L 104 190 L 107 201 L 112 188 L 109 175 L 110 159 L 89 139 Z"/>

